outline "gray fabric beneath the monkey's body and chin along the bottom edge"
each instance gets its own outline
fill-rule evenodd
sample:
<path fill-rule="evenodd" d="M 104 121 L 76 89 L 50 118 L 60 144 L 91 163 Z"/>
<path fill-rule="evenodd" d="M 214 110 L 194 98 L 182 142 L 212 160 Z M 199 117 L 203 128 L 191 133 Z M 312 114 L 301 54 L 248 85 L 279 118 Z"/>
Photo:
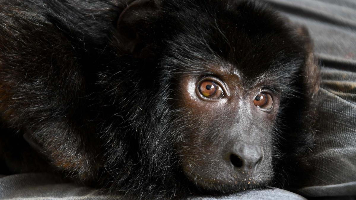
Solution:
<path fill-rule="evenodd" d="M 193 197 L 187 200 L 305 200 L 300 195 L 282 189 L 250 190 L 226 196 Z M 127 196 L 99 194 L 97 190 L 64 183 L 60 178 L 46 173 L 15 174 L 0 179 L 0 199 L 129 199 Z"/>

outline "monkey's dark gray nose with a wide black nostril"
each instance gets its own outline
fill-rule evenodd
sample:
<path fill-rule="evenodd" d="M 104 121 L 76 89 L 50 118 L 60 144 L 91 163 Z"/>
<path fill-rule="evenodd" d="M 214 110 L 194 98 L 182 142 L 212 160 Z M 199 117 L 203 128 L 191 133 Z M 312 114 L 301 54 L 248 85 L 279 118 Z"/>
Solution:
<path fill-rule="evenodd" d="M 235 168 L 255 169 L 262 160 L 261 148 L 251 144 L 235 144 L 230 150 L 229 162 Z"/>

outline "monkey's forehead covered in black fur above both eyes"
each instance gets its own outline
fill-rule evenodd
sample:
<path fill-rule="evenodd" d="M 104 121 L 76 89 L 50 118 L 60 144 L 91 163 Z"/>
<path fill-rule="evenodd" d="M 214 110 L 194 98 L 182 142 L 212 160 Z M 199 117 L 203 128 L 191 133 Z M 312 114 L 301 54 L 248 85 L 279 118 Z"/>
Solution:
<path fill-rule="evenodd" d="M 265 5 L 198 0 L 163 7 L 157 24 L 164 64 L 183 72 L 287 84 L 305 62 L 303 38 Z"/>

